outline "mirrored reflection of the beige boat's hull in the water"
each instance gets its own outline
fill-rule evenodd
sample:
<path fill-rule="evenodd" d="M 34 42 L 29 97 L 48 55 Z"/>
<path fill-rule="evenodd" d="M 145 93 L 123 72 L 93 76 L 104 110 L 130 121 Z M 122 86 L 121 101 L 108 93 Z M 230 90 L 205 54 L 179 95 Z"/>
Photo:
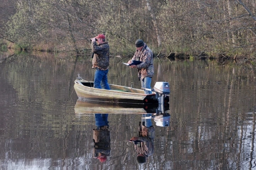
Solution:
<path fill-rule="evenodd" d="M 78 99 L 75 104 L 76 114 L 85 113 L 115 113 L 115 114 L 145 114 L 157 113 L 159 104 L 129 104 L 129 103 L 102 103 Z M 169 110 L 169 104 L 165 103 L 165 110 Z"/>

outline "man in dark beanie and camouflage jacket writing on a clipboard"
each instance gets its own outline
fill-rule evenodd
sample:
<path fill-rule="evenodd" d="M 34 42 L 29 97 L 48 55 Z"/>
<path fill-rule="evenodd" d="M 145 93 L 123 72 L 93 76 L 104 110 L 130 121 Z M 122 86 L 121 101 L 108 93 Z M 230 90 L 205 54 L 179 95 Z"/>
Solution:
<path fill-rule="evenodd" d="M 138 77 L 141 82 L 142 88 L 151 89 L 151 79 L 154 75 L 154 62 L 153 52 L 146 45 L 143 40 L 136 40 L 135 42 L 136 51 L 132 60 L 128 63 L 124 63 L 132 68 L 138 69 Z M 152 94 L 152 91 L 144 89 L 145 94 Z"/>

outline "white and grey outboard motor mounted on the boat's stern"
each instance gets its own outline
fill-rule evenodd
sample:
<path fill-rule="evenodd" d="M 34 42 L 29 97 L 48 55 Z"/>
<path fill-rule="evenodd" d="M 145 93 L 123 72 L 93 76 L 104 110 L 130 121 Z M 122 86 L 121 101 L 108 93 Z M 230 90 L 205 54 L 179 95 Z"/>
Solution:
<path fill-rule="evenodd" d="M 156 82 L 154 86 L 154 92 L 156 93 L 156 98 L 158 98 L 160 107 L 158 109 L 159 113 L 164 113 L 164 99 L 166 95 L 170 94 L 170 87 L 168 82 Z"/>

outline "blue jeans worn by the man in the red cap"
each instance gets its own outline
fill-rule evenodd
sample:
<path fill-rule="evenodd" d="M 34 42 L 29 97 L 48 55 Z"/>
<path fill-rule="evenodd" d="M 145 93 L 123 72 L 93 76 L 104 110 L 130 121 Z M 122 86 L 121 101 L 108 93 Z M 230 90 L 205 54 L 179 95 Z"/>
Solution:
<path fill-rule="evenodd" d="M 108 73 L 108 69 L 107 70 L 96 69 L 95 75 L 94 75 L 94 88 L 102 89 L 101 87 L 101 83 L 102 83 L 104 89 L 110 90 L 110 86 L 108 85 L 108 82 L 107 82 L 107 73 Z"/>

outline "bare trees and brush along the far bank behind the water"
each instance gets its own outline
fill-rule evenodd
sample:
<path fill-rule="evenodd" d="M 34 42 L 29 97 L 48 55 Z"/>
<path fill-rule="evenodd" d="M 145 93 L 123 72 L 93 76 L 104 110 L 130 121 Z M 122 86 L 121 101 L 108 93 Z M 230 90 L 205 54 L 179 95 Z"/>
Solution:
<path fill-rule="evenodd" d="M 143 39 L 155 56 L 256 59 L 256 3 L 247 0 L 10 0 L 0 44 L 20 50 L 91 53 L 105 34 L 111 55 Z M 15 7 L 15 8 L 14 8 Z"/>

